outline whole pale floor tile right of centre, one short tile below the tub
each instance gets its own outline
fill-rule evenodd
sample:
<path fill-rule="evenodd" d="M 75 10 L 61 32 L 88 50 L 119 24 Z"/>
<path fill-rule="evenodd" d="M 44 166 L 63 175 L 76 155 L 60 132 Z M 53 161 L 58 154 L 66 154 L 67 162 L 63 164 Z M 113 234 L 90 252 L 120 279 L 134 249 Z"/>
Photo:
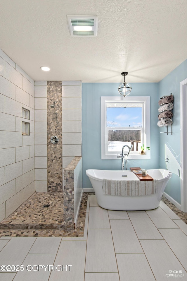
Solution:
<path fill-rule="evenodd" d="M 115 253 L 143 253 L 130 220 L 110 220 Z"/>

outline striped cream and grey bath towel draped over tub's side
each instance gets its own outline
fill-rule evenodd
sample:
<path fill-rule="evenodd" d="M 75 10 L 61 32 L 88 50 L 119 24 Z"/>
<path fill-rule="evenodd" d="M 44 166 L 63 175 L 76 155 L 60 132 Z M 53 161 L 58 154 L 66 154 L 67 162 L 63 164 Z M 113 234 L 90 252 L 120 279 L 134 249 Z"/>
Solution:
<path fill-rule="evenodd" d="M 103 179 L 103 193 L 114 196 L 141 196 L 157 193 L 158 180 L 153 181 L 117 181 Z"/>

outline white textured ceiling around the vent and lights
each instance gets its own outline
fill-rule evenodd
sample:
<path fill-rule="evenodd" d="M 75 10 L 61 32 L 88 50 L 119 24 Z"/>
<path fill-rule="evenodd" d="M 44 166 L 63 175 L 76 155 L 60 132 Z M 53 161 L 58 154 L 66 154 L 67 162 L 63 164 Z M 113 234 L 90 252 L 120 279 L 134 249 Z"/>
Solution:
<path fill-rule="evenodd" d="M 97 15 L 97 37 L 71 37 L 67 15 Z M 0 0 L 0 48 L 34 80 L 159 82 L 186 30 L 186 0 Z"/>

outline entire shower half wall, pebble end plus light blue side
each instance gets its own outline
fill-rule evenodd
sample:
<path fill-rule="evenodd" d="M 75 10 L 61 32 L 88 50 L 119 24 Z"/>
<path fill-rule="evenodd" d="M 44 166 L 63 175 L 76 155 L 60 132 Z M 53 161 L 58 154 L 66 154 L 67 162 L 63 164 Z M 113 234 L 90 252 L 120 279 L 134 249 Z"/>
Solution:
<path fill-rule="evenodd" d="M 82 157 L 75 157 L 64 169 L 64 228 L 75 229 L 82 199 Z"/>

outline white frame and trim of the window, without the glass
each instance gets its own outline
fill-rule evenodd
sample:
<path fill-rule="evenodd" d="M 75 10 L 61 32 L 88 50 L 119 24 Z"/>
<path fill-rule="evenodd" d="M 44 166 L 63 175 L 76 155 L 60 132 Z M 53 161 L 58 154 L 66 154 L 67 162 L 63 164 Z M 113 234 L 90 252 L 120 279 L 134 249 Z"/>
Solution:
<path fill-rule="evenodd" d="M 150 147 L 150 97 L 101 97 L 101 159 L 117 159 L 117 152 L 108 152 L 108 128 L 106 126 L 106 105 L 114 101 L 142 104 L 143 143 L 145 147 Z M 146 150 L 143 155 L 139 151 L 129 153 L 128 159 L 150 159 L 150 150 Z"/>

